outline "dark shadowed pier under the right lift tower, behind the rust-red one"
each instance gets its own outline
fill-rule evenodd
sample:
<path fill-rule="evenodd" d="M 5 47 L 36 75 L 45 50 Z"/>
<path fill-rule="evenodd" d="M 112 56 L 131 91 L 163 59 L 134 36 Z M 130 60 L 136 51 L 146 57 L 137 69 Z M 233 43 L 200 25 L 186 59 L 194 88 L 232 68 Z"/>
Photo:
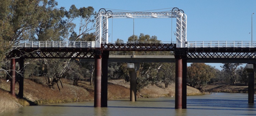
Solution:
<path fill-rule="evenodd" d="M 187 108 L 187 60 L 182 59 L 182 109 Z"/>

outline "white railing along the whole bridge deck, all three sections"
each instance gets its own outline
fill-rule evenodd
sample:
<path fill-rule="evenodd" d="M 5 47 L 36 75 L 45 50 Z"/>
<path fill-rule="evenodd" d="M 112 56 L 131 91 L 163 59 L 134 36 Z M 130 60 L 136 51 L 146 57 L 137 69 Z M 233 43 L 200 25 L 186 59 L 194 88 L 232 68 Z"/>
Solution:
<path fill-rule="evenodd" d="M 13 43 L 13 42 L 12 42 Z M 112 43 L 112 42 L 109 42 Z M 113 42 L 114 44 L 175 44 L 170 41 L 129 41 Z M 188 41 L 184 48 L 256 48 L 252 41 Z M 13 47 L 66 47 L 66 48 L 95 48 L 95 41 L 19 41 Z"/>

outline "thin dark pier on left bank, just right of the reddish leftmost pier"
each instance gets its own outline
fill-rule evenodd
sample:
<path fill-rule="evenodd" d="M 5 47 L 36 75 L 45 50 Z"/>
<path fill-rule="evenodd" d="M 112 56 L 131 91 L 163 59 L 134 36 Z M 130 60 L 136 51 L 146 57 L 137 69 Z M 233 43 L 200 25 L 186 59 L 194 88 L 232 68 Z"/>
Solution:
<path fill-rule="evenodd" d="M 18 98 L 23 98 L 23 91 L 24 91 L 24 58 L 19 59 L 19 69 L 20 74 L 18 76 L 18 83 L 19 83 L 19 93 Z"/>

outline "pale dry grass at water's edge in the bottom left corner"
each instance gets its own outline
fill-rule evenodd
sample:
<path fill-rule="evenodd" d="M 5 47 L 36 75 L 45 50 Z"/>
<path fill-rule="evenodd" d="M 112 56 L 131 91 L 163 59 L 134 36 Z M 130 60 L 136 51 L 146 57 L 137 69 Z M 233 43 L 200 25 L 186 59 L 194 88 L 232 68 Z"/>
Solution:
<path fill-rule="evenodd" d="M 0 113 L 18 108 L 18 105 L 15 103 L 18 100 L 15 97 L 12 97 L 9 92 L 0 89 L 0 95 Z"/>

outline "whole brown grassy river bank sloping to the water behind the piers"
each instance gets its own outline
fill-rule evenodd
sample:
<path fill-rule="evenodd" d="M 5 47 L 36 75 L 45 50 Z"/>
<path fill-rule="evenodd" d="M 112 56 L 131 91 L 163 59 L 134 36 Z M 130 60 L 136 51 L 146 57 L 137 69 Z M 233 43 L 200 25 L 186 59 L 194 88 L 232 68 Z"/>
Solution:
<path fill-rule="evenodd" d="M 45 83 L 43 77 L 33 77 L 24 79 L 24 99 L 17 99 L 10 95 L 10 82 L 1 80 L 0 84 L 0 112 L 15 109 L 17 106 L 42 105 L 52 103 L 82 102 L 94 100 L 94 86 L 90 86 L 89 82 L 79 81 L 77 86 L 72 85 L 72 81 L 62 79 L 63 88 L 58 90 L 51 89 Z M 15 93 L 18 93 L 18 84 L 15 85 Z M 202 95 L 199 90 L 187 87 L 187 95 Z M 156 85 L 148 85 L 137 92 L 138 98 L 158 98 L 158 97 L 174 97 L 175 84 L 171 84 L 168 88 L 159 88 Z M 109 80 L 108 84 L 108 100 L 129 99 L 130 84 L 123 79 Z M 7 100 L 8 99 L 8 100 Z M 9 104 L 9 105 L 7 105 Z M 14 104 L 14 105 L 13 105 Z M 12 107 L 12 108 L 10 108 Z"/>

